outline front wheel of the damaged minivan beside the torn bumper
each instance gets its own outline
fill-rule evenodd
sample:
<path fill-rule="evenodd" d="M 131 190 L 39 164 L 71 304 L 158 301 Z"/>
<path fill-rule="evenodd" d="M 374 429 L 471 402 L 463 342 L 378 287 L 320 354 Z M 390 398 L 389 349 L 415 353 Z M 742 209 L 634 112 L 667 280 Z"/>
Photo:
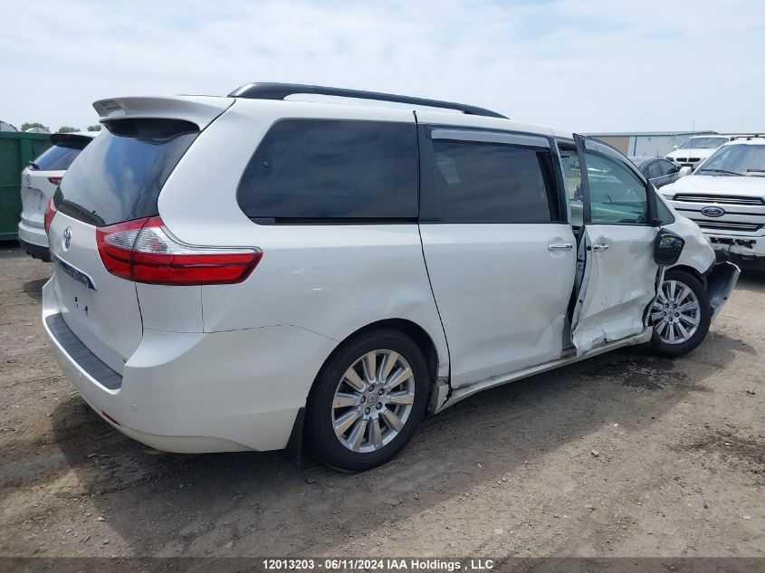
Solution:
<path fill-rule="evenodd" d="M 712 305 L 703 284 L 690 272 L 670 269 L 652 309 L 651 348 L 666 357 L 687 354 L 709 332 Z"/>

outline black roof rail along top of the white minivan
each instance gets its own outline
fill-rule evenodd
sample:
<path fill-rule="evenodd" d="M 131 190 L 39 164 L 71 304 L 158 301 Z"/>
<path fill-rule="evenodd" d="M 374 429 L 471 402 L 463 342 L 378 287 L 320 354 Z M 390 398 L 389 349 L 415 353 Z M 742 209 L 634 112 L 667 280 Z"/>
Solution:
<path fill-rule="evenodd" d="M 427 100 L 426 98 L 412 98 L 409 96 L 399 96 L 392 93 L 380 93 L 378 91 L 348 90 L 345 88 L 327 88 L 322 86 L 302 85 L 300 83 L 266 83 L 255 82 L 246 83 L 241 88 L 237 88 L 228 94 L 230 98 L 247 98 L 250 100 L 283 100 L 287 96 L 296 93 L 311 93 L 317 95 L 338 96 L 341 98 L 356 98 L 358 100 L 378 100 L 395 101 L 397 103 L 408 103 L 415 106 L 424 106 L 428 108 L 443 108 L 445 110 L 462 111 L 467 115 L 480 115 L 487 118 L 507 119 L 501 113 L 496 111 L 478 108 L 464 103 L 454 103 L 452 101 Z"/>

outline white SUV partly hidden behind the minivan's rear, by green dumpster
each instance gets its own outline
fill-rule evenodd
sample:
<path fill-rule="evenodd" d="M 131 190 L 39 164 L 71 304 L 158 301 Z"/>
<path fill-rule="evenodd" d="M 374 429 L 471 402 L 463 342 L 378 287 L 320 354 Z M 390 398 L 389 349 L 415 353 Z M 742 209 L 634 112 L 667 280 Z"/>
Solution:
<path fill-rule="evenodd" d="M 96 135 L 91 132 L 53 133 L 53 146 L 30 162 L 22 172 L 19 243 L 35 259 L 51 261 L 43 220 L 45 208 L 74 158 Z"/>

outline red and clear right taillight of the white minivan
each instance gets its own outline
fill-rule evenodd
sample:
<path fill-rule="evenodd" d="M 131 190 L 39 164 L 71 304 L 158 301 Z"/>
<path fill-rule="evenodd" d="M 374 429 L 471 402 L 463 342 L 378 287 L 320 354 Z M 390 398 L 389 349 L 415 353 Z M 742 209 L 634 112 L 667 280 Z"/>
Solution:
<path fill-rule="evenodd" d="M 150 217 L 96 229 L 99 254 L 107 271 L 149 284 L 233 284 L 260 262 L 254 248 L 197 247 L 181 244 Z"/>

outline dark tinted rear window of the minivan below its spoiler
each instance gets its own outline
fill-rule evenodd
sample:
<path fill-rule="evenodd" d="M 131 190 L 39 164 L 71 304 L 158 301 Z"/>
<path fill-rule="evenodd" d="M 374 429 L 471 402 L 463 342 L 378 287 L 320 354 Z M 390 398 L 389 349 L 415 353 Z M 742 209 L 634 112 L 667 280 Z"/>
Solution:
<path fill-rule="evenodd" d="M 158 215 L 159 191 L 198 134 L 177 119 L 119 119 L 101 133 L 67 172 L 56 208 L 103 226 Z"/>

